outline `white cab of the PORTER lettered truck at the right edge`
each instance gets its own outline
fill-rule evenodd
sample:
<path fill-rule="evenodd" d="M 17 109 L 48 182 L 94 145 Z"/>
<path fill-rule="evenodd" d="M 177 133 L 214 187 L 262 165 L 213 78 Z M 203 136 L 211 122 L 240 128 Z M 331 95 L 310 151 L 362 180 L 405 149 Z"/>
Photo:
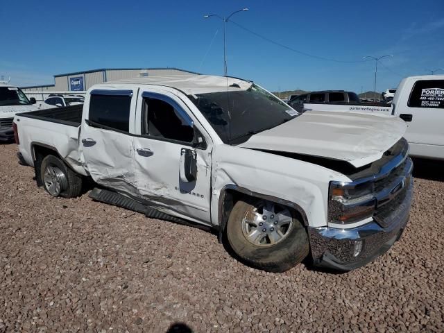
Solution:
<path fill-rule="evenodd" d="M 392 105 L 407 121 L 410 155 L 444 160 L 444 75 L 404 78 Z"/>

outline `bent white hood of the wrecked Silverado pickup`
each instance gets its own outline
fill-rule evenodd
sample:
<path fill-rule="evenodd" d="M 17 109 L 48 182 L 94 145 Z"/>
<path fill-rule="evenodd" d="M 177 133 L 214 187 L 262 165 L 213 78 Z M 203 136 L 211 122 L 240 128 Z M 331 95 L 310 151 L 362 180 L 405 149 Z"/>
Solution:
<path fill-rule="evenodd" d="M 362 167 L 379 160 L 406 129 L 398 117 L 308 111 L 251 136 L 239 146 L 326 157 Z"/>

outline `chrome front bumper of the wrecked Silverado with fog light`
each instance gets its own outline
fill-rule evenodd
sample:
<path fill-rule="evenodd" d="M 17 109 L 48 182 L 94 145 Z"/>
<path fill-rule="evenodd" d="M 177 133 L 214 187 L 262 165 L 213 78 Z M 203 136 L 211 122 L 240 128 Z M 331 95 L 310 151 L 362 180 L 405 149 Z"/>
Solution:
<path fill-rule="evenodd" d="M 398 204 L 384 214 L 384 223 L 373 220 L 351 229 L 308 228 L 314 265 L 351 271 L 386 253 L 400 239 L 409 221 L 413 179 L 409 180 Z"/>

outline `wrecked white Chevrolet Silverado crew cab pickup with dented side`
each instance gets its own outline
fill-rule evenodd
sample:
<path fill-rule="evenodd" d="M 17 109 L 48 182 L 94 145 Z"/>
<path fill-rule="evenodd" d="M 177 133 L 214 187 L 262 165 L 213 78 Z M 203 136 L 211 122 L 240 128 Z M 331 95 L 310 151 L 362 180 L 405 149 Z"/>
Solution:
<path fill-rule="evenodd" d="M 298 115 L 250 81 L 148 77 L 85 104 L 17 114 L 22 162 L 52 196 L 89 196 L 214 228 L 237 257 L 286 271 L 311 255 L 351 270 L 407 225 L 413 180 L 396 117 Z"/>

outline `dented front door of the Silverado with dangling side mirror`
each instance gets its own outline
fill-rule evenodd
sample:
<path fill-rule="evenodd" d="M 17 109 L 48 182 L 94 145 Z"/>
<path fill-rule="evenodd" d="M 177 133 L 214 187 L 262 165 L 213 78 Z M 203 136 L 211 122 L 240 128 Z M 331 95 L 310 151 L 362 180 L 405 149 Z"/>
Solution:
<path fill-rule="evenodd" d="M 212 141 L 187 105 L 162 89 L 140 89 L 134 138 L 139 195 L 157 209 L 210 223 Z"/>

